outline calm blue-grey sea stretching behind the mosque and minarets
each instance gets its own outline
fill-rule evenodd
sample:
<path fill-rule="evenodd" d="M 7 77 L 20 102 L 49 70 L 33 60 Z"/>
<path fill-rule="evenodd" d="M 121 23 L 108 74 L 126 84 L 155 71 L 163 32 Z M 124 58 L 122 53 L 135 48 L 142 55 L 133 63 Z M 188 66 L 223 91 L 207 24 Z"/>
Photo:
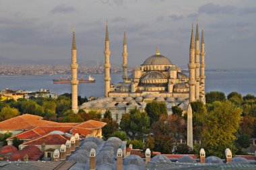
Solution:
<path fill-rule="evenodd" d="M 38 91 L 49 89 L 57 94 L 71 93 L 70 84 L 53 84 L 53 79 L 67 75 L 0 75 L 0 91 L 3 89 Z M 82 97 L 104 96 L 104 74 L 92 75 L 95 83 L 78 85 L 78 95 Z M 237 91 L 242 95 L 256 95 L 256 70 L 212 70 L 205 71 L 205 91 L 222 91 L 226 95 Z M 86 77 L 83 75 L 83 77 Z M 112 74 L 111 83 L 121 82 L 121 74 Z M 84 78 L 85 79 L 85 78 Z"/>

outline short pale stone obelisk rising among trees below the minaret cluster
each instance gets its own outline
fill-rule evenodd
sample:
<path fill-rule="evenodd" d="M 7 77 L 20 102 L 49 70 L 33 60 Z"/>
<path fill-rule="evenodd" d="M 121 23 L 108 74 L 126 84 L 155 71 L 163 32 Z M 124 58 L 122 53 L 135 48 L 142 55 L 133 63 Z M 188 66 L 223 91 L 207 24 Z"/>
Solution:
<path fill-rule="evenodd" d="M 193 122 L 192 122 L 192 108 L 189 103 L 187 108 L 187 146 L 193 149 Z"/>

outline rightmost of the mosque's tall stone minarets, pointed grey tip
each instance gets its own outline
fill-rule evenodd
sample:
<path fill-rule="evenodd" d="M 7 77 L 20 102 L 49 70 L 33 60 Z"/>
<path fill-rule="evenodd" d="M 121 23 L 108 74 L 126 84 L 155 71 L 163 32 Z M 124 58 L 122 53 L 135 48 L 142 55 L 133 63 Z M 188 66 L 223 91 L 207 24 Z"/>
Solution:
<path fill-rule="evenodd" d="M 204 37 L 203 37 L 203 29 L 201 32 L 201 65 L 200 65 L 200 69 L 201 69 L 201 101 L 203 101 L 203 103 L 205 103 L 205 74 L 204 74 L 204 70 L 205 70 L 205 62 L 204 62 L 204 56 L 205 56 L 205 52 L 204 52 Z"/>

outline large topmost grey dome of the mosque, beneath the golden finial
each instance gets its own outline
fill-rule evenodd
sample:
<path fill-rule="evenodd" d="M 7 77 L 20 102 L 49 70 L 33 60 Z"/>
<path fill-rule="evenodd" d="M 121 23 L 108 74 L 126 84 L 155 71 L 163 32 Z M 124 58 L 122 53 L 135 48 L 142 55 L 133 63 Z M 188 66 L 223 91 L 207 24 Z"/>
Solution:
<path fill-rule="evenodd" d="M 142 65 L 173 65 L 172 62 L 166 56 L 153 55 L 148 57 Z"/>

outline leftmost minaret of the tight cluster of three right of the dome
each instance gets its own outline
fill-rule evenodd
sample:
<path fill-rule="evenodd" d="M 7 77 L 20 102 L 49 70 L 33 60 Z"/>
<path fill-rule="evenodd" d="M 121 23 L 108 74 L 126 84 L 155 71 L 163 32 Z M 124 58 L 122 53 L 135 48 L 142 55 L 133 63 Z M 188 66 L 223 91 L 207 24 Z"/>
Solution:
<path fill-rule="evenodd" d="M 189 102 L 195 101 L 195 42 L 192 24 L 191 42 L 189 51 Z"/>

